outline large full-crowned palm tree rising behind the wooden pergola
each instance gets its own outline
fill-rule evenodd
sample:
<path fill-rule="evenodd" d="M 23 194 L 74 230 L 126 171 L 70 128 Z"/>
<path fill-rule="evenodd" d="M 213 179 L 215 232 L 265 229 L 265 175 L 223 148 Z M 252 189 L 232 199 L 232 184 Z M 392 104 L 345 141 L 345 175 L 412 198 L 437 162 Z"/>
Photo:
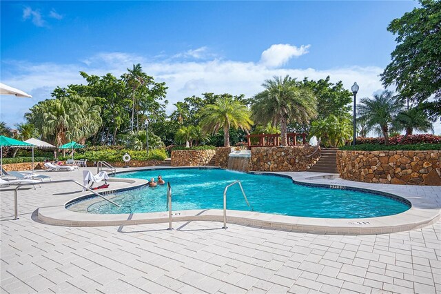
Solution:
<path fill-rule="evenodd" d="M 274 77 L 262 84 L 263 92 L 252 101 L 253 119 L 258 124 L 273 126 L 280 124 L 282 146 L 287 146 L 287 124 L 289 121 L 307 123 L 316 117 L 316 97 L 307 88 L 300 88 L 296 79 Z"/>

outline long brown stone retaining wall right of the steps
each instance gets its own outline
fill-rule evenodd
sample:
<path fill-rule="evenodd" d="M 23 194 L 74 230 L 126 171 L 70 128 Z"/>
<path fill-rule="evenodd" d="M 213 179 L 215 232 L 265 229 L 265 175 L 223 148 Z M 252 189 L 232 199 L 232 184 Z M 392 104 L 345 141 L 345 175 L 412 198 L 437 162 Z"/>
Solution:
<path fill-rule="evenodd" d="M 366 183 L 441 186 L 440 150 L 337 152 L 342 179 Z"/>

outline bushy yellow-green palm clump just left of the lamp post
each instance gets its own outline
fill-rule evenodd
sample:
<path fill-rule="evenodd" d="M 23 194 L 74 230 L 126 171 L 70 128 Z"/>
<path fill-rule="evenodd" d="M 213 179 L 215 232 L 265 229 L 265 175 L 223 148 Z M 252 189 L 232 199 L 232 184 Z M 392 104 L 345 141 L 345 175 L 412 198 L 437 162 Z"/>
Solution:
<path fill-rule="evenodd" d="M 327 147 L 343 146 L 352 136 L 351 120 L 347 116 L 329 115 L 327 119 L 312 122 L 310 135 L 316 136 Z"/>

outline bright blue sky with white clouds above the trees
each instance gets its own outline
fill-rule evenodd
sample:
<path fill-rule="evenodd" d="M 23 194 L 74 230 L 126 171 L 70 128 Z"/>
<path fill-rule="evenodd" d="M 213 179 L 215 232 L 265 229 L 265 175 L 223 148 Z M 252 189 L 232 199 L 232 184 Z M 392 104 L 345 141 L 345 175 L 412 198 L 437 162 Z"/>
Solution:
<path fill-rule="evenodd" d="M 119 76 L 140 62 L 172 104 L 202 92 L 261 90 L 265 79 L 331 75 L 360 95 L 395 48 L 389 22 L 415 1 L 1 1 L 1 81 L 32 99 L 1 97 L 0 120 L 23 120 L 78 72 Z M 438 132 L 440 133 L 440 132 Z"/>

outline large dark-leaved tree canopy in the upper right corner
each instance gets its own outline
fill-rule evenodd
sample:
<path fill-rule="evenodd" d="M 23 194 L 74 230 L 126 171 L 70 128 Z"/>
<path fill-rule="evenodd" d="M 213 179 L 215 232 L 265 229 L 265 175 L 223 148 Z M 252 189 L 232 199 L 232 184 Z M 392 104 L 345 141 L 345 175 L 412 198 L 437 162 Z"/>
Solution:
<path fill-rule="evenodd" d="M 402 97 L 424 104 L 430 115 L 441 115 L 441 1 L 419 0 L 387 30 L 397 35 L 391 63 L 381 74 L 384 86 L 394 84 Z M 428 101 L 433 95 L 435 101 Z"/>

